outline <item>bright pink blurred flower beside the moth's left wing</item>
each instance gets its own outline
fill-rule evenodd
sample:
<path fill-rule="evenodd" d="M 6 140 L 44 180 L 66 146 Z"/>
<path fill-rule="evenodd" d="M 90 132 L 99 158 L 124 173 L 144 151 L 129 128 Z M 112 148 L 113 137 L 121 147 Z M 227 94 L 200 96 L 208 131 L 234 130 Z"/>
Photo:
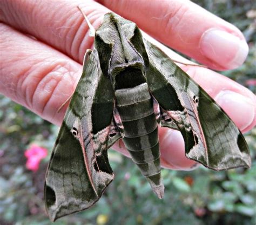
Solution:
<path fill-rule="evenodd" d="M 39 168 L 40 161 L 47 156 L 47 149 L 37 146 L 35 144 L 31 145 L 29 149 L 26 149 L 24 155 L 28 159 L 26 161 L 26 168 L 31 171 L 37 171 Z"/>

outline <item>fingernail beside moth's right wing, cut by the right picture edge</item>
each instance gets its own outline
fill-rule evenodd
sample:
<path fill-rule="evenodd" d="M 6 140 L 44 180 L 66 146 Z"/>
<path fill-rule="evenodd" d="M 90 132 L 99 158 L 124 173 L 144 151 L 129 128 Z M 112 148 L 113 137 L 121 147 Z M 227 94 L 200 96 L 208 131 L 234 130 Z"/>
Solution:
<path fill-rule="evenodd" d="M 217 103 L 242 131 L 254 120 L 254 103 L 250 98 L 233 91 L 221 91 L 215 97 Z"/>

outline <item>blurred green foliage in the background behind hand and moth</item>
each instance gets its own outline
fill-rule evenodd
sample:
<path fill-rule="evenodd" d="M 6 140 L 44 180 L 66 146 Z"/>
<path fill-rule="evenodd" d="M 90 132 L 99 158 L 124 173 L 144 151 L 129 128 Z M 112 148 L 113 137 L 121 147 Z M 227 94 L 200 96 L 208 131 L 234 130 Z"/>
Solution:
<path fill-rule="evenodd" d="M 246 63 L 224 74 L 255 93 L 255 13 L 252 1 L 201 0 L 204 8 L 238 26 L 250 45 Z M 254 5 L 255 6 L 255 5 Z M 254 15 L 254 16 L 253 16 Z M 37 172 L 25 168 L 24 151 L 31 143 L 49 149 L 58 128 L 8 98 L 0 97 L 0 224 L 51 224 L 43 201 L 49 157 Z M 86 212 L 55 224 L 256 224 L 256 129 L 245 134 L 252 153 L 251 169 L 192 172 L 163 169 L 165 198 L 158 200 L 134 163 L 109 151 L 116 179 L 104 196 Z"/>

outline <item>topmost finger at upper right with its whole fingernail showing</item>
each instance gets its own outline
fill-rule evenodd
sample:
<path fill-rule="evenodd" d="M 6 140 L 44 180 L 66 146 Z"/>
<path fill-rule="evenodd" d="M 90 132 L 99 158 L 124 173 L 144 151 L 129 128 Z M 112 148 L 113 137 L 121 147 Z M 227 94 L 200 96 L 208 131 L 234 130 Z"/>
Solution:
<path fill-rule="evenodd" d="M 212 69 L 234 69 L 246 59 L 248 45 L 242 33 L 190 1 L 98 2 L 137 23 L 160 42 Z"/>

